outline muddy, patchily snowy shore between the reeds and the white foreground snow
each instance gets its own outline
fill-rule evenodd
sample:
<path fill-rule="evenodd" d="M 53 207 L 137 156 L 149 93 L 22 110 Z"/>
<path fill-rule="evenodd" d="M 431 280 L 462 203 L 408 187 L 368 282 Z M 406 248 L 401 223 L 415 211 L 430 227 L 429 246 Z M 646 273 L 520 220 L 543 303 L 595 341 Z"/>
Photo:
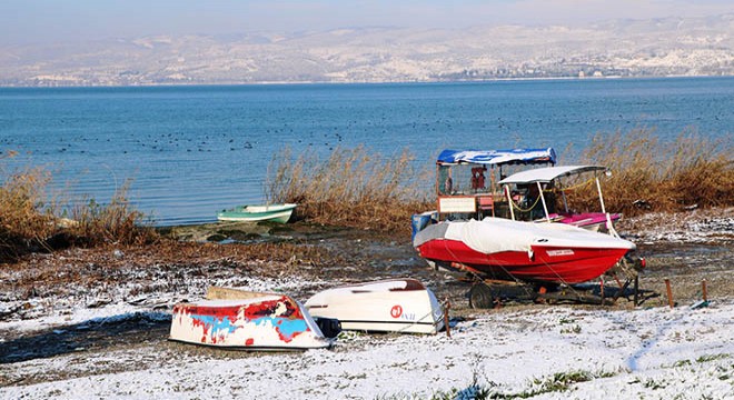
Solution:
<path fill-rule="evenodd" d="M 618 227 L 623 236 L 638 243 L 641 256 L 647 260 L 647 268 L 639 274 L 644 291 L 641 306 L 667 304 L 666 278 L 678 307 L 701 300 L 703 280 L 710 300 L 731 299 L 734 209 L 664 216 L 665 224 L 661 224 L 662 220 L 663 217 L 646 216 L 622 221 Z M 439 299 L 449 301 L 454 318 L 554 307 L 506 300 L 496 309 L 472 309 L 467 299 L 470 281 L 459 273 L 429 268 L 416 256 L 405 233 L 394 236 L 302 222 L 176 227 L 165 233 L 178 241 L 151 248 L 111 244 L 69 249 L 1 266 L 0 387 L 143 368 L 131 361 L 109 361 L 95 368 L 50 367 L 43 377 L 10 373 L 17 362 L 42 363 L 70 357 L 83 364 L 90 354 L 130 352 L 150 346 L 169 354 L 184 351 L 211 358 L 252 357 L 166 340 L 172 304 L 201 298 L 209 286 L 276 290 L 305 301 L 310 294 L 340 283 L 413 277 Z M 289 243 L 307 251 L 296 251 L 287 259 L 246 251 L 256 243 Z M 301 256 L 305 258 L 299 259 Z M 607 284 L 616 286 L 611 278 Z M 97 310 L 112 306 L 123 306 L 125 311 L 116 318 L 95 318 L 102 314 Z M 575 307 L 634 308 L 629 293 L 614 306 Z M 75 319 L 80 309 L 89 316 L 86 320 Z"/>

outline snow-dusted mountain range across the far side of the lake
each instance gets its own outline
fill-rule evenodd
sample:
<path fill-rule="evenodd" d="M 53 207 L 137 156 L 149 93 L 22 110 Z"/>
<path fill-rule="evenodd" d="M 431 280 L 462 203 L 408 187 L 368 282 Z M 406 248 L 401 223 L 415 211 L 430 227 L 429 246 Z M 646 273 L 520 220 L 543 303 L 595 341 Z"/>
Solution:
<path fill-rule="evenodd" d="M 584 27 L 358 28 L 0 48 L 0 86 L 734 76 L 734 14 Z"/>

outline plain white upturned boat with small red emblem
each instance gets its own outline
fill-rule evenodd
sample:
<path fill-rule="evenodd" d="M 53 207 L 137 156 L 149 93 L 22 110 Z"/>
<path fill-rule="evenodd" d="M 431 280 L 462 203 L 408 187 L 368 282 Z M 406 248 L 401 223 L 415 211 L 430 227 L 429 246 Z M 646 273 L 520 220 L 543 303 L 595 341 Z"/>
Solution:
<path fill-rule="evenodd" d="M 335 318 L 343 330 L 436 333 L 444 313 L 436 296 L 415 279 L 391 279 L 328 289 L 306 303 L 316 317 Z"/>

